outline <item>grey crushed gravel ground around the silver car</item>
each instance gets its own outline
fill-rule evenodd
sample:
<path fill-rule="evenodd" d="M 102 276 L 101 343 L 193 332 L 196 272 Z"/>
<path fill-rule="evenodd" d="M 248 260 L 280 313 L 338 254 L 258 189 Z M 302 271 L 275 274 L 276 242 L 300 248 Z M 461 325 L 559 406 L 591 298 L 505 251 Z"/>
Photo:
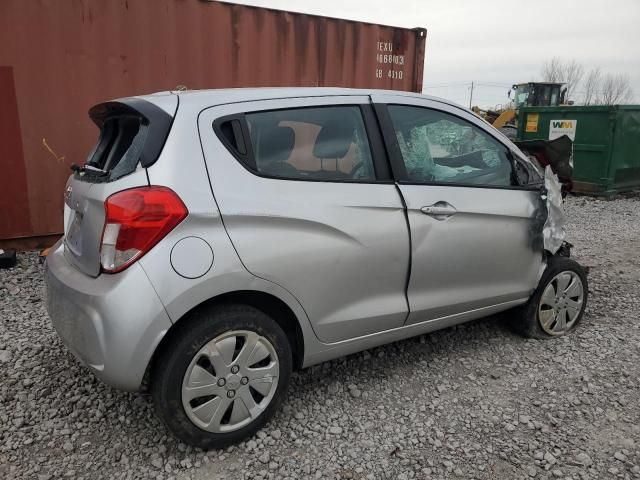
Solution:
<path fill-rule="evenodd" d="M 22 255 L 0 270 L 0 478 L 640 478 L 640 199 L 567 213 L 590 267 L 573 335 L 525 340 L 502 315 L 329 362 L 254 438 L 207 453 L 78 365 Z"/>

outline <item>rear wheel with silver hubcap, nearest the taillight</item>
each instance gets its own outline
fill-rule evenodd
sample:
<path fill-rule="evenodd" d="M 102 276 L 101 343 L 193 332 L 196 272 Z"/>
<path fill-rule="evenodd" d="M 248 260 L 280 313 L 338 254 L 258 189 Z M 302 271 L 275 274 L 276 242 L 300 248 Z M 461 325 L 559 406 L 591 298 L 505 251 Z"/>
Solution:
<path fill-rule="evenodd" d="M 287 390 L 292 353 L 286 334 L 247 305 L 203 309 L 181 322 L 151 373 L 160 418 L 184 443 L 204 450 L 252 435 Z"/>

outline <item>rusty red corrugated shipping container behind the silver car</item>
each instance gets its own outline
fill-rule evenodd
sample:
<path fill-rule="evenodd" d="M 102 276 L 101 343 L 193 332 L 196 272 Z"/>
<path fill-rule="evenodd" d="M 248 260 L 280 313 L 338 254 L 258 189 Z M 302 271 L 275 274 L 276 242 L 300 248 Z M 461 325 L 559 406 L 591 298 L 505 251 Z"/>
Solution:
<path fill-rule="evenodd" d="M 426 30 L 203 0 L 0 2 L 0 240 L 60 234 L 101 101 L 177 88 L 422 91 Z"/>

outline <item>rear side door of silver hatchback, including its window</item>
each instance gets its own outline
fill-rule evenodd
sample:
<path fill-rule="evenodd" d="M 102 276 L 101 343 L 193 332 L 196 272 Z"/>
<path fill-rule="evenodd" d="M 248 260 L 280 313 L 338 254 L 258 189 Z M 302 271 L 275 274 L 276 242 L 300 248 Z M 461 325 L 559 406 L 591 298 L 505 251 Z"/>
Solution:
<path fill-rule="evenodd" d="M 336 96 L 213 107 L 199 119 L 242 262 L 291 292 L 327 343 L 407 316 L 408 229 L 373 118 L 368 97 Z"/>

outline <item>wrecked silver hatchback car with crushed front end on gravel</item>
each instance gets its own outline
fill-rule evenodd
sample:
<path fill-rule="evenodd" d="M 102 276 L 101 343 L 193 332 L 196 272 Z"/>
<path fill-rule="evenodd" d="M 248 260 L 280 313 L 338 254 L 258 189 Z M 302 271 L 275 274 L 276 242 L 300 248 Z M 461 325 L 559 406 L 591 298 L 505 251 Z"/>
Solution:
<path fill-rule="evenodd" d="M 89 113 L 100 135 L 64 192 L 49 315 L 186 443 L 255 432 L 293 369 L 514 307 L 535 338 L 582 317 L 553 165 L 455 104 L 233 89 Z"/>

